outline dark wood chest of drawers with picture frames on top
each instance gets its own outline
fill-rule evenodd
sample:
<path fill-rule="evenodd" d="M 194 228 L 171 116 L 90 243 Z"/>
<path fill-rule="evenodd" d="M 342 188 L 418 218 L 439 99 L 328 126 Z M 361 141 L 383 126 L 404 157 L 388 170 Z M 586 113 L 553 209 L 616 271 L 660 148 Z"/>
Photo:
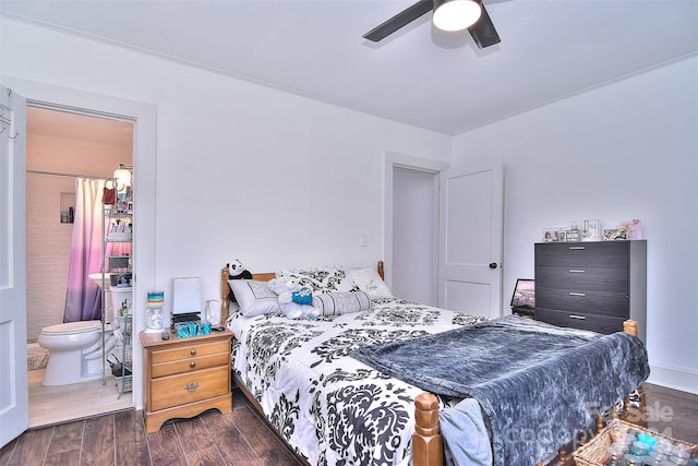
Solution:
<path fill-rule="evenodd" d="M 535 243 L 535 320 L 603 334 L 638 322 L 646 342 L 647 241 Z"/>

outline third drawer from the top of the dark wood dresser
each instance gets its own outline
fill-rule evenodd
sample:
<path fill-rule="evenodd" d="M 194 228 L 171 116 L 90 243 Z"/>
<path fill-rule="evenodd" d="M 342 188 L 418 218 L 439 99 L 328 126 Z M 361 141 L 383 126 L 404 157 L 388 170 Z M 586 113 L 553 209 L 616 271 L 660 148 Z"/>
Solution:
<path fill-rule="evenodd" d="M 627 295 L 578 291 L 535 287 L 535 318 L 538 308 L 564 309 L 571 314 L 595 314 L 628 319 L 629 303 Z"/>

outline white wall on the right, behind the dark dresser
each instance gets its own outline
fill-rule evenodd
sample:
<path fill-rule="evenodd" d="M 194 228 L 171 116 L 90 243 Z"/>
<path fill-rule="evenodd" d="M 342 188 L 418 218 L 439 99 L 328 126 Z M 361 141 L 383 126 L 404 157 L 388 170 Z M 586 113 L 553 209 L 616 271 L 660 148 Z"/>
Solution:
<path fill-rule="evenodd" d="M 454 139 L 454 166 L 502 157 L 504 296 L 533 277 L 545 227 L 639 218 L 648 240 L 651 381 L 698 393 L 698 58 Z M 508 301 L 507 301 L 508 302 Z"/>

